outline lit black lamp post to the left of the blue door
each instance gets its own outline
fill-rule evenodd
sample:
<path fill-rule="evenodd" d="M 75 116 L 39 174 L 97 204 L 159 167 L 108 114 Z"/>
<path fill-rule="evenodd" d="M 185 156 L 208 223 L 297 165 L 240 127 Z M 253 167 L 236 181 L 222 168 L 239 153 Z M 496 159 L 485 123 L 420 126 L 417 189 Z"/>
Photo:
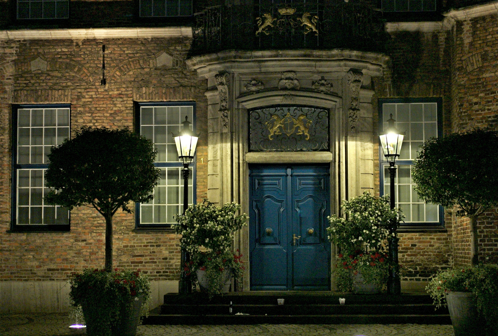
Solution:
<path fill-rule="evenodd" d="M 183 161 L 183 214 L 188 208 L 188 176 L 189 169 L 188 166 L 192 163 L 195 154 L 195 148 L 197 147 L 197 140 L 199 136 L 190 130 L 191 122 L 188 121 L 188 117 L 185 116 L 185 121 L 182 122 L 183 129 L 178 134 L 173 134 L 175 139 L 176 150 L 178 152 L 178 158 Z M 180 279 L 180 293 L 192 293 L 192 284 L 190 281 L 186 280 L 185 275 L 185 264 L 190 261 L 190 255 L 187 251 L 181 250 L 181 279 Z"/>

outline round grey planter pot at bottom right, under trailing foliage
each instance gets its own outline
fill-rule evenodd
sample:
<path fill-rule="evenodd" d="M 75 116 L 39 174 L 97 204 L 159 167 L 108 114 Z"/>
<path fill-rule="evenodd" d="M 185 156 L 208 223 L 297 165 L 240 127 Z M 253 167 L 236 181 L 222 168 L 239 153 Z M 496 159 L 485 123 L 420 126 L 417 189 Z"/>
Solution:
<path fill-rule="evenodd" d="M 446 303 L 455 336 L 485 335 L 486 323 L 479 318 L 475 298 L 474 293 L 467 292 L 446 294 Z"/>

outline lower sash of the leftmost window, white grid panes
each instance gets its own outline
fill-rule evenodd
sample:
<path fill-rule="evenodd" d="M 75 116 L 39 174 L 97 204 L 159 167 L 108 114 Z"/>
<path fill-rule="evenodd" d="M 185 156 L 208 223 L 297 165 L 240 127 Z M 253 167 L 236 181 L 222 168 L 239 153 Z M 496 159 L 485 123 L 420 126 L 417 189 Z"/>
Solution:
<path fill-rule="evenodd" d="M 46 205 L 43 198 L 53 190 L 45 186 L 46 169 L 17 170 L 17 225 L 69 224 L 69 210 Z"/>

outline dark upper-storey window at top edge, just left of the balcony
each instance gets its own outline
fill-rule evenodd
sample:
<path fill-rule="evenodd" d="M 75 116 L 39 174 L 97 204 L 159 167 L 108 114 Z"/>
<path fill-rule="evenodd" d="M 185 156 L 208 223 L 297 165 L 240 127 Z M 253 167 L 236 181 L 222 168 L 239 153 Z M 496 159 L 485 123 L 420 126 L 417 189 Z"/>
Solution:
<path fill-rule="evenodd" d="M 191 15 L 192 0 L 140 0 L 140 17 Z"/>

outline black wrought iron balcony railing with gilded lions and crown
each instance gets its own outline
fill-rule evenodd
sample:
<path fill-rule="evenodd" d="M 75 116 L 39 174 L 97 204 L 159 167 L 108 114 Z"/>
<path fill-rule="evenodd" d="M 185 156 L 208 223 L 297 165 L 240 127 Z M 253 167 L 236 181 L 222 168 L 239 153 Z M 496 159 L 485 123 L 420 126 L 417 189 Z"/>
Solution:
<path fill-rule="evenodd" d="M 381 11 L 344 0 L 327 4 L 257 4 L 253 8 L 220 5 L 208 7 L 194 17 L 193 55 L 230 49 L 340 48 L 382 52 L 387 39 Z"/>

